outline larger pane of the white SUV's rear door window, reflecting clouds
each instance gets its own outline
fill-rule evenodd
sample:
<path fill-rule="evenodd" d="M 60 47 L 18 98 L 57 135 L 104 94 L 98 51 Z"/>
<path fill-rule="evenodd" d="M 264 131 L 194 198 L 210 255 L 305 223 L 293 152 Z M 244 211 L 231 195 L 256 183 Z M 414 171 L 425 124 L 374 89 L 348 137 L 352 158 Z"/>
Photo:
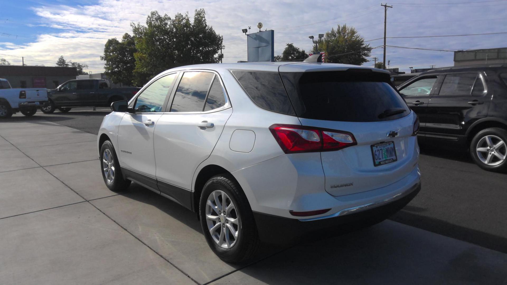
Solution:
<path fill-rule="evenodd" d="M 174 94 L 171 112 L 202 112 L 213 77 L 210 72 L 184 73 Z"/>

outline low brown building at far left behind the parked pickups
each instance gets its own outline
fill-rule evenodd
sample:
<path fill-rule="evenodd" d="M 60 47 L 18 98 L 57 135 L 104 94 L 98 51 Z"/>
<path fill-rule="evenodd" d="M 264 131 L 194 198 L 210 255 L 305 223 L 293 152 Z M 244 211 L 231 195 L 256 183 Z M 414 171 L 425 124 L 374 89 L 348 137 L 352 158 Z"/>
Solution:
<path fill-rule="evenodd" d="M 77 75 L 76 67 L 0 65 L 0 78 L 12 88 L 54 89 Z"/>

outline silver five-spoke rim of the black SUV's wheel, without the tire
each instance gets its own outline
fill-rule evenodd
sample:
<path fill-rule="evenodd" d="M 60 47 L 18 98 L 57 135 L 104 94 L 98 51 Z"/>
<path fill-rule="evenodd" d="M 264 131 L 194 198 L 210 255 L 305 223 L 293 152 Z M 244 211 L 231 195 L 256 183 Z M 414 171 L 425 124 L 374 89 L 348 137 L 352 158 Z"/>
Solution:
<path fill-rule="evenodd" d="M 490 166 L 502 163 L 507 157 L 507 146 L 505 141 L 496 135 L 486 135 L 477 143 L 477 156 Z"/>

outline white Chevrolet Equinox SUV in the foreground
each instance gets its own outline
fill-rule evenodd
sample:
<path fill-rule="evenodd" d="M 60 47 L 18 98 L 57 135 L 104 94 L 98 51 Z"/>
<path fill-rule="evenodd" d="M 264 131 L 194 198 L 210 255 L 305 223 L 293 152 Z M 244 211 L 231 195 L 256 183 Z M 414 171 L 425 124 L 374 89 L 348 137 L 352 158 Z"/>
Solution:
<path fill-rule="evenodd" d="M 369 225 L 420 190 L 419 121 L 384 70 L 332 63 L 169 69 L 111 105 L 104 182 L 198 212 L 222 260 L 260 241 Z"/>

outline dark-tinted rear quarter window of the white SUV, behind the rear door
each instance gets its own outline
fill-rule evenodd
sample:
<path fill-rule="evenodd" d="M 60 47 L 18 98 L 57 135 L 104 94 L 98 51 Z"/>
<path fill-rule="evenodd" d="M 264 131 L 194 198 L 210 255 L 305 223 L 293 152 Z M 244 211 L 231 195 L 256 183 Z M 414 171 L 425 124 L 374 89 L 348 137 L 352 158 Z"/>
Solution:
<path fill-rule="evenodd" d="M 254 103 L 262 109 L 295 116 L 294 108 L 277 72 L 246 72 L 232 74 Z"/>

